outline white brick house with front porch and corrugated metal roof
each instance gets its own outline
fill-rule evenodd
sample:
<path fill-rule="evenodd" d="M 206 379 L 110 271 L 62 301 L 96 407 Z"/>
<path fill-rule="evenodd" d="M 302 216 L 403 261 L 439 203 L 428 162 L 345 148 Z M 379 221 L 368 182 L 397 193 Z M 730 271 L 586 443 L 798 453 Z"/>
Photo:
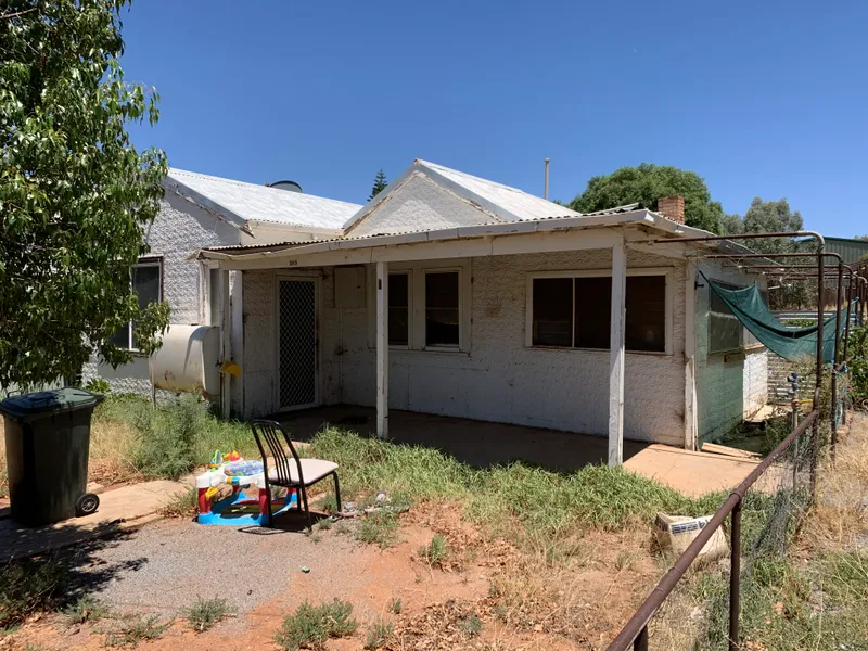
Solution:
<path fill-rule="evenodd" d="M 550 427 L 608 436 L 618 463 L 624 437 L 693 449 L 766 403 L 764 348 L 699 271 L 763 277 L 702 259 L 737 244 L 679 243 L 707 234 L 685 226 L 682 197 L 583 215 L 416 161 L 365 206 L 309 197 L 309 213 L 290 213 L 271 189 L 255 204 L 183 174 L 154 227 L 174 238 L 164 221 L 179 206 L 208 226 L 155 251 L 164 286 L 169 265 L 193 265 L 190 286 L 164 293 L 186 302 L 176 316 L 208 318 L 217 294 L 196 312 L 196 278 L 232 288 L 217 310 L 241 374 L 227 376 L 225 411 L 375 405 L 382 436 L 390 409 Z"/>

